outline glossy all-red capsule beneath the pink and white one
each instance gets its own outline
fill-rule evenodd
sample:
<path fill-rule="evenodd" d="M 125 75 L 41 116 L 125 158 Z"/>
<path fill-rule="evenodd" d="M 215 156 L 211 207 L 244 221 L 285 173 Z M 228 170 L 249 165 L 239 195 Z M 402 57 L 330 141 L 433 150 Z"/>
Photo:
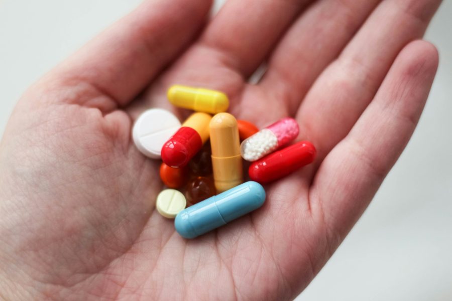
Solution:
<path fill-rule="evenodd" d="M 316 150 L 309 141 L 300 141 L 250 165 L 250 179 L 261 184 L 285 177 L 315 159 Z"/>

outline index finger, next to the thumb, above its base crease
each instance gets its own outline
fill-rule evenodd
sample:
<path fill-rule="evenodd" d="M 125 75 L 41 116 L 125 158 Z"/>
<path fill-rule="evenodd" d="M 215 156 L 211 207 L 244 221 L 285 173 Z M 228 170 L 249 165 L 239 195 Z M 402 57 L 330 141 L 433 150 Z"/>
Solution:
<path fill-rule="evenodd" d="M 215 17 L 200 46 L 248 77 L 309 0 L 230 0 Z"/>

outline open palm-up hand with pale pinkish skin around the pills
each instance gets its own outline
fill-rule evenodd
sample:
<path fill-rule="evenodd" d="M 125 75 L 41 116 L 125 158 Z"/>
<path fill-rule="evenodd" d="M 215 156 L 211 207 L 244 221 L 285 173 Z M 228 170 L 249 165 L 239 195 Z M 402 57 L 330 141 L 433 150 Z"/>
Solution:
<path fill-rule="evenodd" d="M 0 297 L 295 297 L 413 133 L 438 64 L 418 39 L 439 3 L 230 0 L 206 22 L 208 0 L 144 2 L 17 104 L 0 144 Z M 131 139 L 146 108 L 187 115 L 165 99 L 174 83 L 227 93 L 259 127 L 294 116 L 317 159 L 267 185 L 261 209 L 181 238 L 155 210 L 160 163 Z"/>

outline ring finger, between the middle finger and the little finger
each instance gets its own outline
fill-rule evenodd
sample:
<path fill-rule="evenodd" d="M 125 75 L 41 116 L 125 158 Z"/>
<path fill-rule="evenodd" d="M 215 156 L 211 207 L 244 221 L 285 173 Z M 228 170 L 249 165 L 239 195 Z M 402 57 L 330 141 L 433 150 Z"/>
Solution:
<path fill-rule="evenodd" d="M 310 139 L 320 162 L 355 124 L 373 99 L 391 64 L 420 38 L 439 0 L 385 0 L 341 56 L 315 82 L 301 104 L 300 137 Z"/>

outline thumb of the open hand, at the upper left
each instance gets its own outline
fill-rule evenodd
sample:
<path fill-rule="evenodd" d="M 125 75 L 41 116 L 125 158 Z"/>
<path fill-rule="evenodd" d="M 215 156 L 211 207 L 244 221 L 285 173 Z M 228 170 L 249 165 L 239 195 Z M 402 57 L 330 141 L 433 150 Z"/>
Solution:
<path fill-rule="evenodd" d="M 125 105 L 193 38 L 210 2 L 146 1 L 57 67 L 47 80 L 75 87 L 79 93 L 69 101 L 78 104 L 103 110 Z"/>

